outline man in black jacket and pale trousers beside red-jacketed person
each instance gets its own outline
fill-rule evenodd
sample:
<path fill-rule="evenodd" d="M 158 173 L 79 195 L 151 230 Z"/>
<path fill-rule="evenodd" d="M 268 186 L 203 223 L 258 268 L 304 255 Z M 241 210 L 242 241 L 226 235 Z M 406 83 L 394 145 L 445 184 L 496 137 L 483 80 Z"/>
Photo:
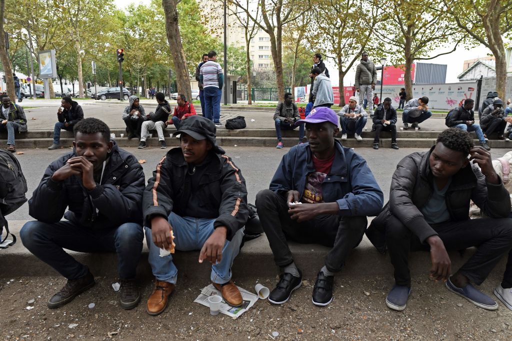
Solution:
<path fill-rule="evenodd" d="M 165 123 L 169 118 L 170 113 L 170 105 L 165 99 L 165 95 L 162 93 L 157 93 L 157 103 L 158 106 L 155 112 L 150 112 L 147 114 L 147 121 L 142 123 L 141 133 L 140 133 L 140 143 L 139 149 L 146 148 L 146 140 L 150 137 L 150 130 L 156 129 L 158 134 L 158 141 L 160 141 L 160 148 L 165 149 L 167 145 L 165 144 L 165 137 L 163 135 L 163 130 L 165 129 Z"/>

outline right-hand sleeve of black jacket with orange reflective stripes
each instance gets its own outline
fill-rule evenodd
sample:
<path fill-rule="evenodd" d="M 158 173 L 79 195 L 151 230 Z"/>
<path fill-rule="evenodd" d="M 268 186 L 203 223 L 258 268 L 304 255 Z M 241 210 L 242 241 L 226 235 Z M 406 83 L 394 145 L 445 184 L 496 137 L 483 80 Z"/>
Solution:
<path fill-rule="evenodd" d="M 223 169 L 221 179 L 222 199 L 219 208 L 219 218 L 214 227 L 226 226 L 227 240 L 231 240 L 234 234 L 240 230 L 249 217 L 247 208 L 247 188 L 245 179 L 240 169 L 232 162 L 231 158 L 222 155 Z"/>

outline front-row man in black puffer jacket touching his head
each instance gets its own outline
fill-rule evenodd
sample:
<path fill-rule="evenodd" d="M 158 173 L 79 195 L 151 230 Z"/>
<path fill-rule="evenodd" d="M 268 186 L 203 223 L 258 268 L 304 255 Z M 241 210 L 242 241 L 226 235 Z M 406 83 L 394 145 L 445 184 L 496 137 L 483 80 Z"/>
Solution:
<path fill-rule="evenodd" d="M 488 218 L 469 219 L 471 200 Z M 494 293 L 512 309 L 509 213 L 509 194 L 489 152 L 473 146 L 468 132 L 444 130 L 429 151 L 403 158 L 391 180 L 390 201 L 367 231 L 381 253 L 389 252 L 395 268 L 396 284 L 386 298 L 388 307 L 406 308 L 411 293 L 409 252 L 430 250 L 430 278 L 444 280 L 447 289 L 489 310 L 497 309 L 498 304 L 471 282 L 482 284 L 508 254 L 503 281 Z M 452 276 L 446 250 L 472 246 L 477 247 L 476 253 Z"/>

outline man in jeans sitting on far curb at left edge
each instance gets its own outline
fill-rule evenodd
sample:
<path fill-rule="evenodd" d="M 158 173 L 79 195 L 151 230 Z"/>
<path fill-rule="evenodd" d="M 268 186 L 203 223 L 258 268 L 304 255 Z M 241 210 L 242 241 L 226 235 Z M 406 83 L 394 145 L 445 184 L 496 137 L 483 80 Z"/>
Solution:
<path fill-rule="evenodd" d="M 14 146 L 14 135 L 17 132 L 27 131 L 27 118 L 25 117 L 25 111 L 18 104 L 11 102 L 11 99 L 7 95 L 2 97 L 2 112 L 0 112 L 0 118 L 2 124 L 0 124 L 0 131 L 7 130 L 7 150 L 15 152 L 16 147 Z"/>

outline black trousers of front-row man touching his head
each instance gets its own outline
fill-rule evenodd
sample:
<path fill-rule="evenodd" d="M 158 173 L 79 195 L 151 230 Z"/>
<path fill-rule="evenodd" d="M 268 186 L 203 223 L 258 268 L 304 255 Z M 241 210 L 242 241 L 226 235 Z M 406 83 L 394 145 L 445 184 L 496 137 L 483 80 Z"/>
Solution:
<path fill-rule="evenodd" d="M 512 282 L 512 219 L 481 218 L 433 224 L 447 251 L 459 251 L 477 246 L 477 252 L 459 269 L 473 283 L 480 285 L 508 253 L 508 262 L 503 282 Z M 429 251 L 428 244 L 421 244 L 398 218 L 391 215 L 386 224 L 386 243 L 395 267 L 395 282 L 411 287 L 409 274 L 409 252 Z M 452 269 L 455 272 L 454 269 Z M 511 283 L 512 284 L 512 283 Z"/>

